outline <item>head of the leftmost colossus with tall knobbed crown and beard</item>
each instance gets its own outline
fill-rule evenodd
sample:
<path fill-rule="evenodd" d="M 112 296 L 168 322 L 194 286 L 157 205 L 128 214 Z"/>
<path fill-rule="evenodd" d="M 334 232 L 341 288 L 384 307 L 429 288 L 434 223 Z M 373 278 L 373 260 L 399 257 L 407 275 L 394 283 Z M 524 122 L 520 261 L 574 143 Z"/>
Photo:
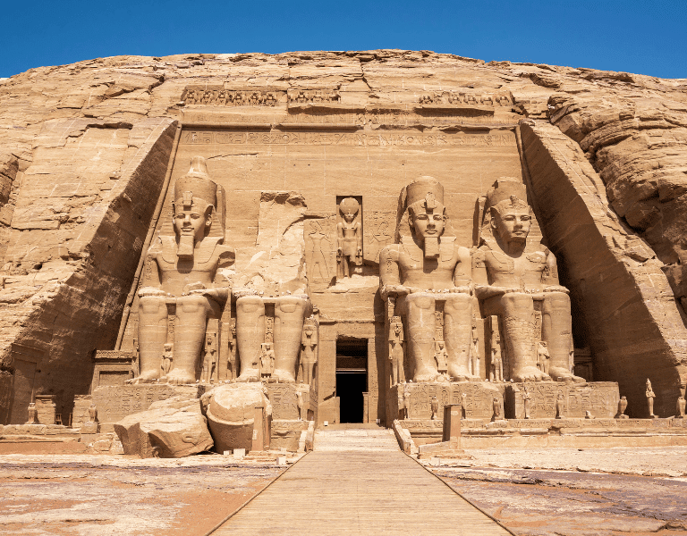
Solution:
<path fill-rule="evenodd" d="M 216 201 L 217 185 L 208 176 L 205 159 L 194 156 L 189 172 L 174 184 L 174 233 L 180 258 L 192 258 L 193 246 L 208 234 Z"/>

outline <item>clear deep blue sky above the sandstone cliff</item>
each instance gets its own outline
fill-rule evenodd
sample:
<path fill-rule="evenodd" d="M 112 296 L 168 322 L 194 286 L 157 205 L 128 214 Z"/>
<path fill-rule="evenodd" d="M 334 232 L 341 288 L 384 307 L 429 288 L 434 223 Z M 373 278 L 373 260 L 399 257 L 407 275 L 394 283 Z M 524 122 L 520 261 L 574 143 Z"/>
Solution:
<path fill-rule="evenodd" d="M 687 0 L 4 0 L 0 77 L 141 54 L 433 50 L 687 78 Z"/>

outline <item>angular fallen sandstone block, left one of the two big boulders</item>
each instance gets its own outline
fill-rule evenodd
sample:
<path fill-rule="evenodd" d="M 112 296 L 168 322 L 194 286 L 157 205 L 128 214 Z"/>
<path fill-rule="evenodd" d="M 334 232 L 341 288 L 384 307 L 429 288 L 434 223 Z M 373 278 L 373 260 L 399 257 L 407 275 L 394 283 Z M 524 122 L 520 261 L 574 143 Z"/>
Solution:
<path fill-rule="evenodd" d="M 209 450 L 213 440 L 198 398 L 173 397 L 153 402 L 147 411 L 114 423 L 124 454 L 182 457 Z"/>

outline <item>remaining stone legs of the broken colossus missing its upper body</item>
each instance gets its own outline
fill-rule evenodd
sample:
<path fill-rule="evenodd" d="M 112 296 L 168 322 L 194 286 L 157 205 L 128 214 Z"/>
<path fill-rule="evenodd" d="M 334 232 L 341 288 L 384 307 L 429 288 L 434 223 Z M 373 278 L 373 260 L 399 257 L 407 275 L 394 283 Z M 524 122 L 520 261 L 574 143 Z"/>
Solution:
<path fill-rule="evenodd" d="M 274 319 L 265 314 L 266 301 L 274 303 Z M 259 380 L 262 344 L 268 341 L 273 343 L 271 348 L 275 356 L 272 379 L 295 382 L 303 321 L 311 313 L 312 304 L 306 295 L 261 297 L 252 291 L 242 291 L 236 299 L 236 331 L 241 360 L 238 381 Z"/>

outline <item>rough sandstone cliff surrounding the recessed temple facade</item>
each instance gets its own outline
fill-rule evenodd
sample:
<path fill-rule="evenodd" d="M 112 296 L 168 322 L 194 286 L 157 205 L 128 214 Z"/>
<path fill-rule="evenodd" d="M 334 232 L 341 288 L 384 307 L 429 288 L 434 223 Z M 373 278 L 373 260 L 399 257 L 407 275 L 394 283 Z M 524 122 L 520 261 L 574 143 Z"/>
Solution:
<path fill-rule="evenodd" d="M 213 86 L 334 88 L 366 110 L 440 106 L 465 88 L 504 96 L 528 120 L 523 163 L 572 291 L 576 343 L 636 416 L 647 375 L 657 411 L 674 411 L 687 381 L 687 80 L 379 50 L 118 56 L 0 80 L 0 421 L 12 374 L 58 395 L 64 414 L 88 391 L 90 356 L 114 345 L 183 92 Z M 365 118 L 362 128 L 391 128 Z M 288 203 L 282 226 L 297 231 L 306 209 Z M 260 263 L 281 255 L 301 281 L 293 237 L 279 252 L 285 231 L 267 224 L 283 209 L 273 197 L 255 205 L 236 241 L 258 268 L 238 279 L 265 279 Z"/>

